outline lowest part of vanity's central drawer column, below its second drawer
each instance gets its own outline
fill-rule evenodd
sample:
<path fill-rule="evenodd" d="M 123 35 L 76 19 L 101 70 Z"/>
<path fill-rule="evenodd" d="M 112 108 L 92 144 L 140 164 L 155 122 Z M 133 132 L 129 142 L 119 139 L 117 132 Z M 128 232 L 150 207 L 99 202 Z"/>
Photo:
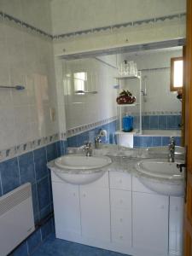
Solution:
<path fill-rule="evenodd" d="M 131 211 L 112 209 L 111 232 L 113 242 L 131 246 Z"/>

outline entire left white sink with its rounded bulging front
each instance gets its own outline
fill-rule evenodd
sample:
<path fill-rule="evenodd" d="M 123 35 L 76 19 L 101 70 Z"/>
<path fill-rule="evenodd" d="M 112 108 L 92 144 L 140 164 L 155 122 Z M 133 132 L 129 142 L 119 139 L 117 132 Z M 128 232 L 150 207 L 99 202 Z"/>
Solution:
<path fill-rule="evenodd" d="M 110 165 L 108 156 L 84 156 L 70 154 L 55 160 L 54 172 L 61 180 L 71 184 L 88 184 L 96 181 L 104 174 L 103 168 Z"/>

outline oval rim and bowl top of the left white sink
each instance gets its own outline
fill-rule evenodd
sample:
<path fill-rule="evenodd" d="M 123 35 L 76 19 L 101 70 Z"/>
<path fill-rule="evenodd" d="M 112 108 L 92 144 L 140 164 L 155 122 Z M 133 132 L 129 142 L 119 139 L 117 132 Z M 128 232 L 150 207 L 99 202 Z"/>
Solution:
<path fill-rule="evenodd" d="M 108 156 L 84 156 L 69 154 L 55 160 L 55 165 L 63 169 L 91 170 L 99 169 L 111 164 Z"/>

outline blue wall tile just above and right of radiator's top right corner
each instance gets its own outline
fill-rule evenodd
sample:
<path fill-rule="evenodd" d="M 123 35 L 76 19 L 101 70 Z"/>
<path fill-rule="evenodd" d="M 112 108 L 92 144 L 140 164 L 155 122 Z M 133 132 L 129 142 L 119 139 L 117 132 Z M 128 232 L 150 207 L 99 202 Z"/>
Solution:
<path fill-rule="evenodd" d="M 39 180 L 42 177 L 48 175 L 47 169 L 47 156 L 45 148 L 38 148 L 34 150 L 35 172 L 36 179 Z"/>

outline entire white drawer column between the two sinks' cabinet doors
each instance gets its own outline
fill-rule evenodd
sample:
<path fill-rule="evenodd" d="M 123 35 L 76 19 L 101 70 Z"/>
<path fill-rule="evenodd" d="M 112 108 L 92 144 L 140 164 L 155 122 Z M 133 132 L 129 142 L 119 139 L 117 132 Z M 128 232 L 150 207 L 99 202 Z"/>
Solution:
<path fill-rule="evenodd" d="M 131 175 L 109 172 L 113 245 L 131 247 Z"/>

